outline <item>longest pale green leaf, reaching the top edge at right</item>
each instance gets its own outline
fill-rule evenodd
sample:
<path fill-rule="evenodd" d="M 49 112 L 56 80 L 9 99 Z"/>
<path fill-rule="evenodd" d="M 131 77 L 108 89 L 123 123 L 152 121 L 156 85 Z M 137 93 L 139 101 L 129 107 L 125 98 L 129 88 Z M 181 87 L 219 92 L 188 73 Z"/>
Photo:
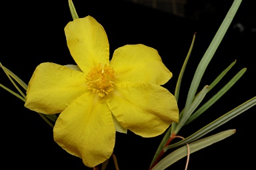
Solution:
<path fill-rule="evenodd" d="M 203 58 L 199 62 L 199 65 L 197 66 L 197 70 L 195 71 L 195 75 L 193 77 L 193 80 L 191 82 L 191 86 L 189 88 L 189 93 L 187 95 L 187 101 L 185 104 L 185 111 L 189 108 L 191 103 L 193 102 L 193 98 L 195 96 L 195 93 L 197 91 L 197 88 L 199 86 L 199 83 L 201 82 L 201 78 L 205 72 L 205 69 L 207 68 L 209 62 L 211 61 L 211 58 L 213 58 L 213 55 L 215 54 L 215 51 L 217 50 L 219 44 L 221 43 L 225 33 L 227 32 L 227 29 L 229 28 L 229 25 L 231 24 L 231 21 L 233 20 L 233 17 L 235 16 L 235 13 L 237 12 L 237 9 L 239 8 L 239 5 L 242 0 L 235 0 L 229 9 L 225 19 L 221 23 L 221 26 L 219 27 L 215 37 L 213 38 L 213 41 L 211 41 L 211 44 L 207 48 L 205 54 L 203 55 Z"/>

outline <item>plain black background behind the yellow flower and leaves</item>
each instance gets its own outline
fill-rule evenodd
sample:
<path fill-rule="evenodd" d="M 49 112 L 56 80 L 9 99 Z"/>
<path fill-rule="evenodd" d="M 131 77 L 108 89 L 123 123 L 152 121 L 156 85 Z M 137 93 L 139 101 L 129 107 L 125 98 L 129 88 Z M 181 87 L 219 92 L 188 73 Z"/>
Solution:
<path fill-rule="evenodd" d="M 125 44 L 145 44 L 159 51 L 173 78 L 165 84 L 174 93 L 179 71 L 189 50 L 193 33 L 195 45 L 187 65 L 179 98 L 185 105 L 193 73 L 213 39 L 233 1 L 215 1 L 215 9 L 205 11 L 202 1 L 188 1 L 187 17 L 181 18 L 127 1 L 73 1 L 79 17 L 91 15 L 103 25 L 113 51 Z M 219 116 L 255 96 L 255 13 L 252 1 L 243 1 L 231 27 L 211 60 L 199 88 L 211 82 L 235 59 L 237 64 L 207 95 L 205 100 L 224 86 L 239 70 L 244 76 L 207 112 L 179 132 L 189 136 Z M 5 1 L 1 3 L 0 61 L 26 83 L 41 62 L 75 64 L 67 48 L 64 27 L 72 21 L 67 1 Z M 199 17 L 191 17 L 195 11 Z M 190 17 L 189 17 L 190 16 Z M 233 29 L 242 23 L 245 31 Z M 3 71 L 0 83 L 15 90 Z M 1 169 L 87 169 L 81 159 L 69 155 L 53 141 L 52 129 L 23 106 L 23 102 L 5 90 L 1 96 Z M 255 107 L 237 116 L 210 134 L 237 129 L 231 137 L 191 155 L 189 169 L 251 169 L 255 167 Z M 209 135 L 209 134 L 208 134 Z M 148 169 L 163 135 L 143 138 L 128 131 L 117 133 L 114 153 L 120 169 Z M 171 166 L 184 169 L 186 158 Z M 171 169 L 170 168 L 170 169 Z M 113 169 L 113 162 L 109 163 Z"/>

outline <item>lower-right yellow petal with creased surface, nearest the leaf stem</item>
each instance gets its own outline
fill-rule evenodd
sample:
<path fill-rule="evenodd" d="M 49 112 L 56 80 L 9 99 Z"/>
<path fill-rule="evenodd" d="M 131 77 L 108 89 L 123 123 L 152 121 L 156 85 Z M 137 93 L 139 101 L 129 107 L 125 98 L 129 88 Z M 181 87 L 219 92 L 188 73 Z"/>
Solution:
<path fill-rule="evenodd" d="M 175 97 L 157 84 L 116 84 L 107 104 L 123 128 L 143 137 L 160 135 L 179 121 Z"/>

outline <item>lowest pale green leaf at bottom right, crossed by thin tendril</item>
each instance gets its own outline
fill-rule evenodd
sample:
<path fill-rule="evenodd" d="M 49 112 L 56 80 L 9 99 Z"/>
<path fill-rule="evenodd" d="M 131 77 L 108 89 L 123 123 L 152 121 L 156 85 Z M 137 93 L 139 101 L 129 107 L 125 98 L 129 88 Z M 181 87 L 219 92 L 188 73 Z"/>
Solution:
<path fill-rule="evenodd" d="M 211 135 L 209 137 L 205 137 L 203 139 L 199 139 L 198 141 L 194 141 L 193 143 L 189 143 L 189 150 L 190 154 L 194 153 L 200 149 L 203 149 L 209 145 L 212 145 L 213 143 L 216 143 L 218 141 L 221 141 L 235 133 L 235 129 L 229 129 L 226 131 L 222 131 L 220 133 L 217 133 L 215 135 Z M 183 146 L 169 155 L 167 155 L 165 158 L 163 158 L 155 167 L 153 167 L 152 170 L 158 170 L 158 169 L 166 169 L 176 161 L 179 161 L 179 159 L 182 159 L 183 157 L 187 156 L 187 146 Z"/>

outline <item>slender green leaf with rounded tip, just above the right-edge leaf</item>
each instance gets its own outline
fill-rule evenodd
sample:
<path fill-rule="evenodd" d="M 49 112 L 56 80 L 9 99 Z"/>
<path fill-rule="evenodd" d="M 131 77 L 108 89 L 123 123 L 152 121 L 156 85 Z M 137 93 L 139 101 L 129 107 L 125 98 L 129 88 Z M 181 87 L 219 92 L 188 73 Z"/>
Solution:
<path fill-rule="evenodd" d="M 245 73 L 246 70 L 247 70 L 247 68 L 243 68 L 242 70 L 240 70 L 223 88 L 221 88 L 221 90 L 219 90 L 219 92 L 217 92 L 217 94 L 215 94 L 210 100 L 208 100 L 203 106 L 201 106 L 201 108 L 199 108 L 199 110 L 197 110 L 194 114 L 192 114 L 189 117 L 189 119 L 187 120 L 187 122 L 185 123 L 185 125 L 187 125 L 190 122 L 192 122 L 193 120 L 195 120 L 198 116 L 203 114 L 203 112 L 205 112 L 205 110 L 207 110 L 217 100 L 219 100 L 219 98 L 221 98 L 221 96 L 223 96 L 223 94 L 225 94 L 237 82 L 237 80 L 239 80 L 239 78 L 241 78 L 241 76 L 243 76 L 243 74 Z"/>

